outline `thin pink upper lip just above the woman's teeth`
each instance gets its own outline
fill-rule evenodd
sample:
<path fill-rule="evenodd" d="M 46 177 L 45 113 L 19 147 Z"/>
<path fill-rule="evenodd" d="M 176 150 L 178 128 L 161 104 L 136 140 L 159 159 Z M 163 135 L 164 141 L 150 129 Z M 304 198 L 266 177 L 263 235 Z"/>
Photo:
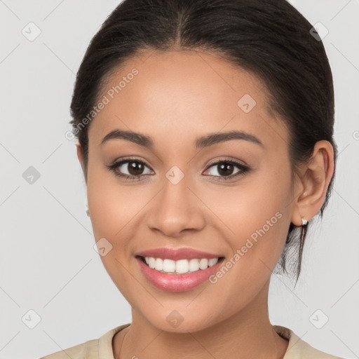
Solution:
<path fill-rule="evenodd" d="M 194 250 L 192 248 L 179 248 L 177 250 L 171 248 L 155 248 L 151 250 L 143 250 L 142 252 L 137 252 L 136 256 L 172 259 L 174 261 L 179 259 L 210 259 L 223 257 L 222 255 L 213 255 L 212 253 L 203 252 L 201 250 Z"/>

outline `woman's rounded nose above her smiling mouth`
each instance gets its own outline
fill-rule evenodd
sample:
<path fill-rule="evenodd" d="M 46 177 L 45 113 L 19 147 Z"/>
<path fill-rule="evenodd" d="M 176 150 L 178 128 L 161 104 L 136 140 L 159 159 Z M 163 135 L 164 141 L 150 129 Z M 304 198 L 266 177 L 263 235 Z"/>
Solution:
<path fill-rule="evenodd" d="M 151 201 L 147 226 L 173 238 L 182 236 L 185 230 L 203 229 L 205 206 L 194 192 L 189 188 L 186 176 L 177 184 L 165 178 L 163 188 Z"/>

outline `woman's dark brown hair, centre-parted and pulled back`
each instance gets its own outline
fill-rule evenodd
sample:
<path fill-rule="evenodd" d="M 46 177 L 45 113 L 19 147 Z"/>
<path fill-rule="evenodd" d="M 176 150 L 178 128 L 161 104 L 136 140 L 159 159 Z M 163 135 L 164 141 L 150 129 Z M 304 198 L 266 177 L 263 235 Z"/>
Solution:
<path fill-rule="evenodd" d="M 88 118 L 114 69 L 141 50 L 220 53 L 266 84 L 269 104 L 290 133 L 292 170 L 311 158 L 319 140 L 333 138 L 334 90 L 325 48 L 313 25 L 285 0 L 125 0 L 95 34 L 76 76 L 71 103 L 74 135 L 88 164 Z M 87 123 L 88 121 L 86 121 Z M 332 192 L 330 181 L 320 217 Z M 308 225 L 290 224 L 278 265 L 297 257 L 297 280 Z M 297 248 L 292 251 L 292 248 Z M 297 282 L 296 282 L 297 283 Z"/>

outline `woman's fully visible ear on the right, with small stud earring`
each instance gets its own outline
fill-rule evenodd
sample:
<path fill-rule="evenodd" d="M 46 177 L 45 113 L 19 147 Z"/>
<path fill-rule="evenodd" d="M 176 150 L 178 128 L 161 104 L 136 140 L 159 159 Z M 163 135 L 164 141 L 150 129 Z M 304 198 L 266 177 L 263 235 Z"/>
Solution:
<path fill-rule="evenodd" d="M 302 226 L 302 218 L 309 221 L 325 201 L 327 188 L 334 173 L 334 149 L 326 140 L 316 142 L 308 163 L 302 165 L 294 185 L 295 198 L 292 223 Z M 299 194 L 299 195 L 298 195 Z"/>

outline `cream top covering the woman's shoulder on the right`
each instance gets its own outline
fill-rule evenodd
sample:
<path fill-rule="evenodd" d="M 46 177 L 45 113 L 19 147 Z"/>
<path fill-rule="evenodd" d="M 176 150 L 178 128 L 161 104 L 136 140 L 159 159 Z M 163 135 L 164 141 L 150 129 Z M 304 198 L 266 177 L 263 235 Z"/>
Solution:
<path fill-rule="evenodd" d="M 313 348 L 313 346 L 306 343 L 306 341 L 302 340 L 297 334 L 287 327 L 283 327 L 281 325 L 273 325 L 273 327 L 281 337 L 288 339 L 289 341 L 287 351 L 285 352 L 283 359 L 344 359 Z"/>

